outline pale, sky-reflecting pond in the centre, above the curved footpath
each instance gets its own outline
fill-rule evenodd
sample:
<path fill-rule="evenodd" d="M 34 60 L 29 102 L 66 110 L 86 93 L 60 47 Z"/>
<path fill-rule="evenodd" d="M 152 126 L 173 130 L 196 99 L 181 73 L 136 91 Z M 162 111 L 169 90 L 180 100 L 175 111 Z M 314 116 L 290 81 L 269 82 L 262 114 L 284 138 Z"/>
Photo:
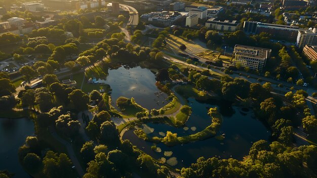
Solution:
<path fill-rule="evenodd" d="M 160 109 L 168 103 L 165 100 L 167 94 L 163 93 L 159 96 L 154 94 L 160 90 L 155 86 L 155 75 L 149 69 L 140 66 L 130 69 L 120 67 L 109 70 L 108 73 L 105 83 L 112 89 L 112 105 L 115 106 L 115 101 L 120 96 L 134 97 L 138 104 L 148 110 Z"/>

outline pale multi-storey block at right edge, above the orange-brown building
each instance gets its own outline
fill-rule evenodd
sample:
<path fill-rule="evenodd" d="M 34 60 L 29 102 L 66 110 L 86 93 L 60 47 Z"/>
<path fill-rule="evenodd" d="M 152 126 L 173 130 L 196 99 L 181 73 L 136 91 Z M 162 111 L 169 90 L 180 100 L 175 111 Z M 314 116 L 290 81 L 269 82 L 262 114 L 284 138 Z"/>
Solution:
<path fill-rule="evenodd" d="M 305 45 L 317 45 L 317 28 L 313 28 L 312 31 L 298 31 L 296 46 L 303 49 Z"/>

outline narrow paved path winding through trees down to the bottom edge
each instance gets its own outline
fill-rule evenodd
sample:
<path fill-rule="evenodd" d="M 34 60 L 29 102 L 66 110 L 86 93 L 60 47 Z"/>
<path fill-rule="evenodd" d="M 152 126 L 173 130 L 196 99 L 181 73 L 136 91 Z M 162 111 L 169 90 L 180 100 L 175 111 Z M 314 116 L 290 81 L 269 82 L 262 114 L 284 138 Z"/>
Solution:
<path fill-rule="evenodd" d="M 75 152 L 72 149 L 72 146 L 68 143 L 68 141 L 64 140 L 63 138 L 61 138 L 57 133 L 54 127 L 49 127 L 49 130 L 52 134 L 52 136 L 57 139 L 61 144 L 63 144 L 68 152 L 68 157 L 71 160 L 71 162 L 73 163 L 73 165 L 75 166 L 75 169 L 78 173 L 78 175 L 80 175 L 81 177 L 84 176 L 85 172 L 80 164 L 80 162 L 78 161 L 77 157 L 75 156 Z"/>

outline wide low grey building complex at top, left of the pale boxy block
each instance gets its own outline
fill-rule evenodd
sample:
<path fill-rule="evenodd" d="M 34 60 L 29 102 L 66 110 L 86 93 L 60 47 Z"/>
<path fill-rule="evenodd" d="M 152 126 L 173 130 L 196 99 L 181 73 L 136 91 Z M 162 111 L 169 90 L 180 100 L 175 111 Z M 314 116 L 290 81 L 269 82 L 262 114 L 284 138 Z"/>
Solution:
<path fill-rule="evenodd" d="M 140 20 L 143 22 L 148 22 L 153 25 L 158 26 L 172 26 L 175 24 L 180 24 L 183 20 L 185 20 L 186 15 L 181 14 L 177 11 L 175 12 L 151 12 L 148 14 L 143 14 L 140 17 Z"/>

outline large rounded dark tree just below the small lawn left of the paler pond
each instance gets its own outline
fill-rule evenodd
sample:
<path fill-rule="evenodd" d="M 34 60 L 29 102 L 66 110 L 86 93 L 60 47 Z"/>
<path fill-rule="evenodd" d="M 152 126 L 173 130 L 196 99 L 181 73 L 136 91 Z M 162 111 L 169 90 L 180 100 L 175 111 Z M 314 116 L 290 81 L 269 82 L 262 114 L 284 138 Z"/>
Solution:
<path fill-rule="evenodd" d="M 69 100 L 73 103 L 74 108 L 83 111 L 87 109 L 89 96 L 82 90 L 76 89 L 68 94 Z"/>

